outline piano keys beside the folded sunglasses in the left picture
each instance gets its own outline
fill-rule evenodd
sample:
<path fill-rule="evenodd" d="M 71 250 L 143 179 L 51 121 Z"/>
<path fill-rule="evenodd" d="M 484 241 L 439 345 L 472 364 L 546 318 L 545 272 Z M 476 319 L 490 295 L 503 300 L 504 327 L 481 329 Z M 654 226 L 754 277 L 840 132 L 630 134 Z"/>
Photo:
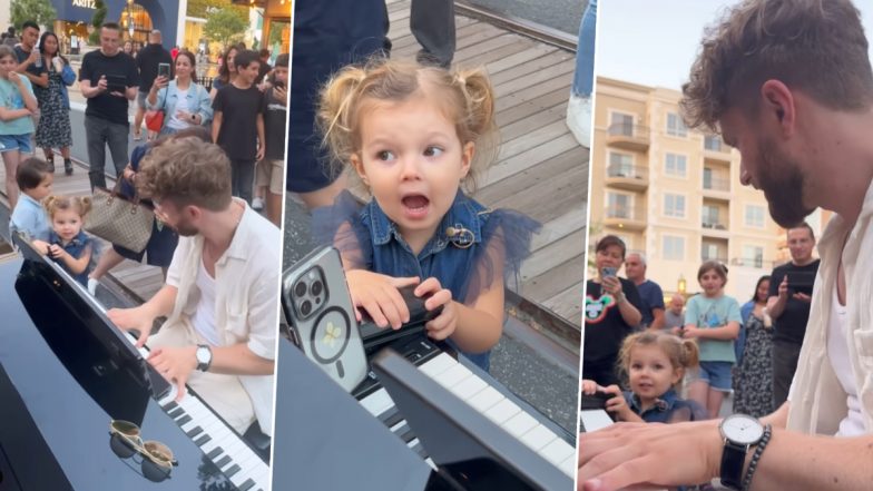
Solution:
<path fill-rule="evenodd" d="M 136 345 L 136 338 L 133 334 L 125 337 Z M 147 348 L 138 347 L 137 350 L 144 359 L 148 359 Z M 190 393 L 186 393 L 179 401 L 176 401 L 177 395 L 176 385 L 170 384 L 170 391 L 158 401 L 158 405 L 215 467 L 239 491 L 268 490 L 269 465 L 234 430 L 216 416 L 203 401 Z"/>

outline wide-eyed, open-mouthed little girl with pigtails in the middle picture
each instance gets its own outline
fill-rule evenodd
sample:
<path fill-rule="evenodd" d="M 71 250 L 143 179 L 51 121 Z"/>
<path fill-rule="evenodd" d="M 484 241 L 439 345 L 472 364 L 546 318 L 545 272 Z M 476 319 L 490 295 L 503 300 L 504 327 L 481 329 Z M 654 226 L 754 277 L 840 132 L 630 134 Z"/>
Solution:
<path fill-rule="evenodd" d="M 503 330 L 504 273 L 518 272 L 538 224 L 461 189 L 472 189 L 496 150 L 484 72 L 350 66 L 323 89 L 318 125 L 335 161 L 372 196 L 362 207 L 344 193 L 313 212 L 316 227 L 326 226 L 316 234 L 342 254 L 354 305 L 398 328 L 409 320 L 398 288 L 414 285 L 416 296 L 432 295 L 426 310 L 443 307 L 428 335 L 488 370 Z"/>

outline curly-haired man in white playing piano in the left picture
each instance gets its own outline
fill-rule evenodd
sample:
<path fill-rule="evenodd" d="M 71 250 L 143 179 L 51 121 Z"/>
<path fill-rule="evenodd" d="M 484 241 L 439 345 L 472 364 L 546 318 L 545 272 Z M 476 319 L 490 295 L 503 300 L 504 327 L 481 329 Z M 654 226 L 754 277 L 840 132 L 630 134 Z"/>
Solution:
<path fill-rule="evenodd" d="M 167 283 L 148 302 L 108 315 L 137 330 L 148 362 L 197 391 L 239 434 L 257 420 L 272 434 L 278 325 L 279 230 L 230 195 L 230 161 L 194 138 L 154 148 L 136 177 L 141 196 L 182 236 Z M 155 318 L 167 316 L 150 336 Z"/>

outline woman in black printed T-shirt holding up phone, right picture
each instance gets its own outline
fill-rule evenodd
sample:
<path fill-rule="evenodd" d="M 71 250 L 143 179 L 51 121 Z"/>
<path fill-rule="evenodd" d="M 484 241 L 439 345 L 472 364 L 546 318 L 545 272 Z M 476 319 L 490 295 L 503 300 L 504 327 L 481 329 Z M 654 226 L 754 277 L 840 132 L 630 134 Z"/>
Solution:
<path fill-rule="evenodd" d="M 625 337 L 643 321 L 643 302 L 636 285 L 617 276 L 626 251 L 625 243 L 615 235 L 598 240 L 597 277 L 586 284 L 582 379 L 602 386 L 619 384 L 618 352 Z"/>

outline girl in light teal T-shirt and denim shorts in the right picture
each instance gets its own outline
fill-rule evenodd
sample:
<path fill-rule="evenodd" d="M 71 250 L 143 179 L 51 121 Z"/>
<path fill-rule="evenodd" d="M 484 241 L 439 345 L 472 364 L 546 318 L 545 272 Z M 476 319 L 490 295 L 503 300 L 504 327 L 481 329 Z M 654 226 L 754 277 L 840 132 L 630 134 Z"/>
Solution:
<path fill-rule="evenodd" d="M 743 317 L 737 301 L 725 295 L 727 267 L 707 261 L 697 271 L 697 281 L 703 293 L 688 301 L 685 327 L 676 332 L 686 340 L 697 340 L 700 346 L 700 376 L 691 382 L 688 396 L 705 406 L 709 418 L 716 418 L 733 385 L 734 340 L 739 335 Z"/>

